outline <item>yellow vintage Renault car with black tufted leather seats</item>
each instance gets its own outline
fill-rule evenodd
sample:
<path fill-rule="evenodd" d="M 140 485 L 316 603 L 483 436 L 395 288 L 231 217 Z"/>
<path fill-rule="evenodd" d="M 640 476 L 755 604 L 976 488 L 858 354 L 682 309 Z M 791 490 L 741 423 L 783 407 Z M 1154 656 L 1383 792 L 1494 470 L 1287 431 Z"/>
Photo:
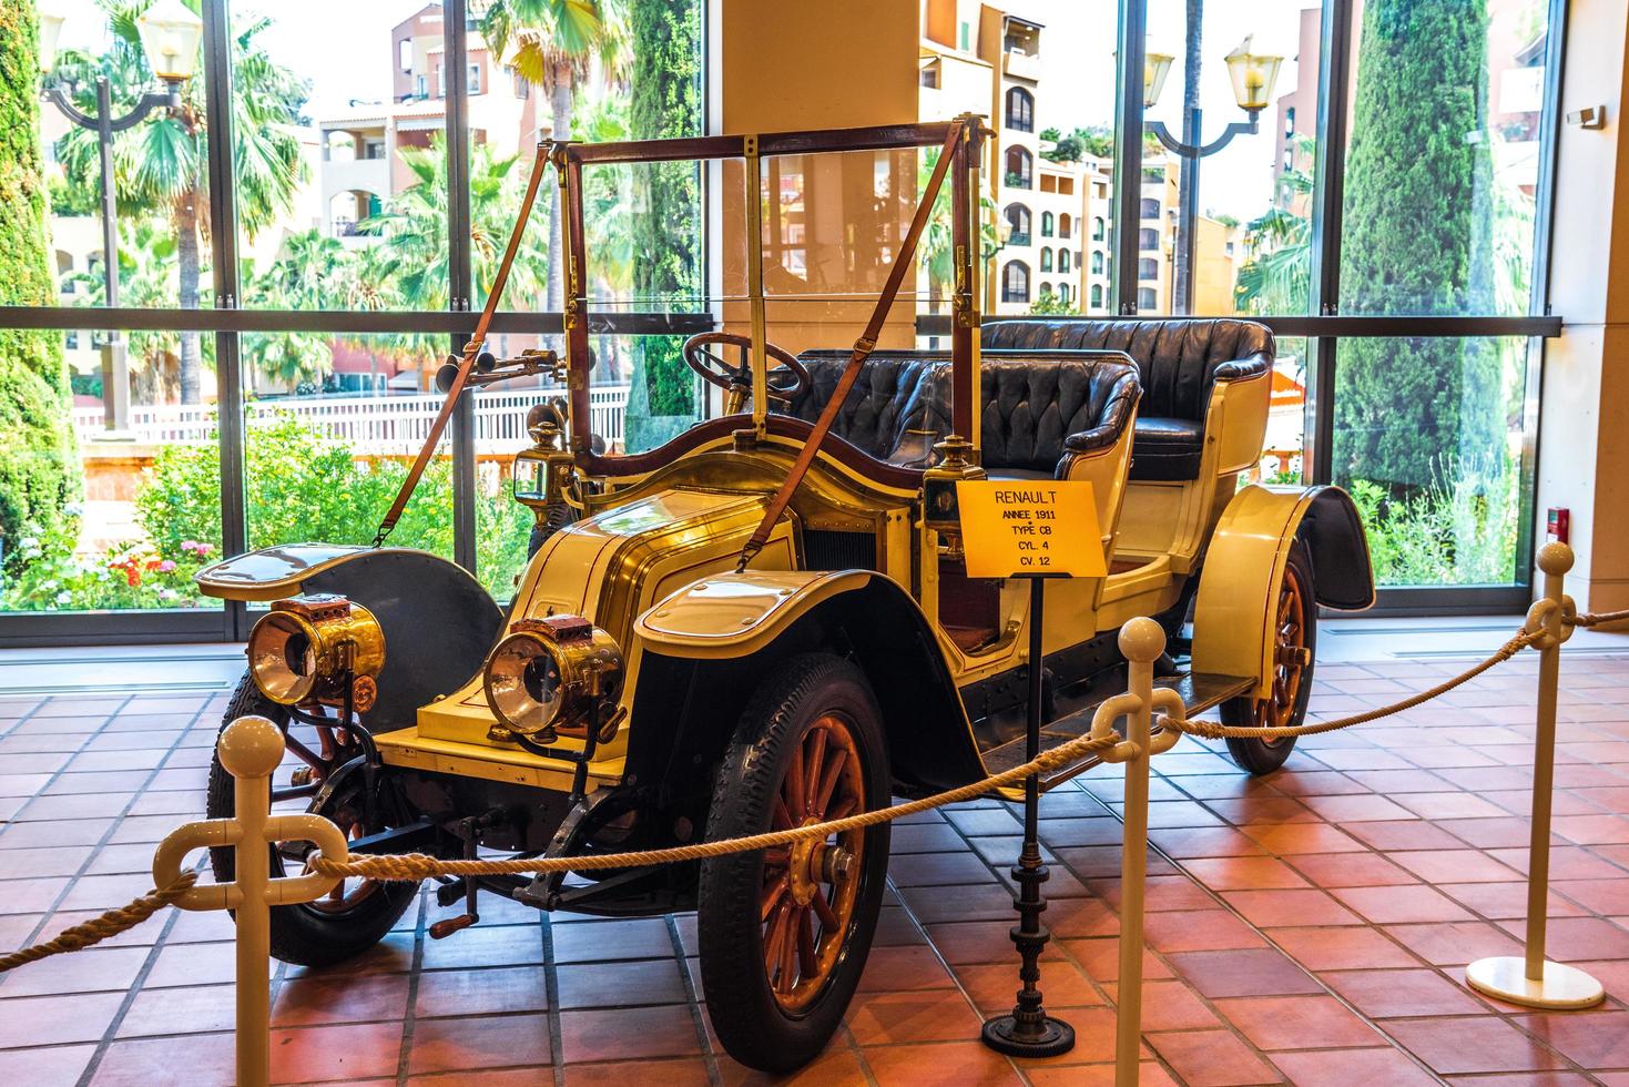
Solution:
<path fill-rule="evenodd" d="M 567 209 L 564 350 L 471 372 L 476 345 L 450 367 L 454 396 L 466 378 L 562 378 L 516 461 L 538 531 L 513 603 L 386 546 L 280 546 L 199 575 L 210 595 L 270 601 L 226 717 L 287 728 L 274 802 L 327 815 L 357 852 L 443 857 L 821 821 L 1020 764 L 1033 667 L 1043 745 L 1083 733 L 1122 689 L 1116 632 L 1132 616 L 1166 627 L 1160 683 L 1191 712 L 1300 722 L 1318 608 L 1365 608 L 1373 580 L 1344 492 L 1240 486 L 1261 456 L 1271 332 L 982 318 L 986 135 L 961 117 L 544 148 Z M 630 450 L 593 429 L 603 284 L 583 194 L 596 169 L 673 161 L 710 171 L 722 209 L 720 328 L 684 344 L 691 425 Z M 1108 574 L 1046 582 L 1043 662 L 1028 583 L 968 575 L 956 484 L 986 477 L 1091 482 Z M 1259 774 L 1292 743 L 1230 746 Z M 230 813 L 217 764 L 209 815 Z M 692 865 L 450 882 L 438 900 L 464 913 L 432 935 L 471 924 L 477 891 L 604 916 L 696 909 L 718 1038 L 785 1071 L 855 991 L 888 844 L 885 825 Z M 274 869 L 306 849 L 274 849 Z M 231 864 L 213 857 L 220 878 Z M 272 952 L 342 960 L 415 893 L 349 882 L 279 908 Z"/>

